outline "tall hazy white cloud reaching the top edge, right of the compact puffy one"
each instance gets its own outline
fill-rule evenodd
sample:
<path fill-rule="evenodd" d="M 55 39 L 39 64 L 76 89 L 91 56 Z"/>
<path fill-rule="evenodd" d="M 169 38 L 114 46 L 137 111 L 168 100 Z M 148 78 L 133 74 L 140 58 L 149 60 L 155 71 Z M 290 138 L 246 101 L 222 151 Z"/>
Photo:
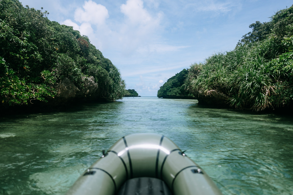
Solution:
<path fill-rule="evenodd" d="M 136 52 L 151 52 L 149 45 L 161 39 L 163 13 L 151 15 L 142 0 L 127 0 L 120 6 L 125 15 L 120 29 L 117 29 L 119 39 L 116 42 L 122 47 L 124 55 L 131 56 Z"/>

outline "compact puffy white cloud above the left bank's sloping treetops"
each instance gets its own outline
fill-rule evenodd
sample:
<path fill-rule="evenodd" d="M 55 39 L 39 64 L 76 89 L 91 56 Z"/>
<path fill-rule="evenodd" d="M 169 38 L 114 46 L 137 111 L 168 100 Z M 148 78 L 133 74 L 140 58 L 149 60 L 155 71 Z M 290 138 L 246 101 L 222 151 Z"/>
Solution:
<path fill-rule="evenodd" d="M 77 22 L 104 25 L 105 20 L 109 18 L 107 8 L 101 4 L 89 0 L 85 1 L 82 7 L 83 9 L 77 8 L 75 10 L 74 20 Z"/>

